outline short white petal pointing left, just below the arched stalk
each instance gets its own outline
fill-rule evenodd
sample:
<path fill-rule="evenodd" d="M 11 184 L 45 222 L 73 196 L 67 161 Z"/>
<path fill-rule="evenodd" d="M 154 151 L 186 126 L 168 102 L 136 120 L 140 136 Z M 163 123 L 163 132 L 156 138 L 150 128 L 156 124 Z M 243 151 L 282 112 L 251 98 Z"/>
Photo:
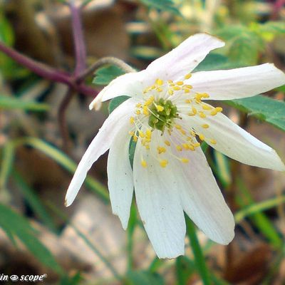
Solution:
<path fill-rule="evenodd" d="M 100 108 L 101 102 L 112 98 L 127 95 L 130 97 L 142 96 L 142 90 L 147 87 L 150 78 L 146 78 L 145 71 L 126 73 L 123 76 L 118 76 L 111 81 L 108 86 L 96 96 L 90 103 L 90 110 Z M 152 83 L 153 84 L 153 83 Z"/>

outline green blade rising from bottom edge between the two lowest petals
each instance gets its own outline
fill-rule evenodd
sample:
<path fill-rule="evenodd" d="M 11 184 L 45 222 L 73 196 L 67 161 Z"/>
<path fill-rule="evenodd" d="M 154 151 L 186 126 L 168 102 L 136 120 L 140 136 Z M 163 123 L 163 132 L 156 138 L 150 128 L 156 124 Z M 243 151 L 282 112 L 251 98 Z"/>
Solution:
<path fill-rule="evenodd" d="M 204 285 L 210 285 L 211 280 L 209 278 L 209 271 L 206 266 L 206 262 L 202 253 L 202 249 L 199 244 L 199 240 L 197 238 L 195 225 L 192 223 L 192 221 L 190 221 L 190 219 L 187 216 L 185 216 L 185 220 L 187 225 L 187 234 L 190 239 L 192 252 L 195 257 L 195 264 L 199 271 L 199 275 L 201 276 Z"/>

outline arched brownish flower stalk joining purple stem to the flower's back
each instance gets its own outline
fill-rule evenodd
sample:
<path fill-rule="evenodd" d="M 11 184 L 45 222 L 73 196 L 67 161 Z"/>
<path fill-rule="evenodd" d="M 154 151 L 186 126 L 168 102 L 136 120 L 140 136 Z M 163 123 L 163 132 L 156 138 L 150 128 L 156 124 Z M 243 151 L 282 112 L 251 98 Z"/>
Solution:
<path fill-rule="evenodd" d="M 108 56 L 108 57 L 105 57 L 105 58 L 100 58 L 98 61 L 93 63 L 92 66 L 87 68 L 86 71 L 83 71 L 83 73 L 81 73 L 76 78 L 76 81 L 77 82 L 78 81 L 82 81 L 84 78 L 92 75 L 93 72 L 97 68 L 99 68 L 100 66 L 104 66 L 105 64 L 113 64 L 114 66 L 118 66 L 119 68 L 121 68 L 126 73 L 130 73 L 130 72 L 135 72 L 136 71 L 135 68 L 133 68 L 132 66 L 129 66 L 127 63 L 125 63 L 125 61 L 121 61 L 119 58 L 114 58 L 112 56 Z"/>

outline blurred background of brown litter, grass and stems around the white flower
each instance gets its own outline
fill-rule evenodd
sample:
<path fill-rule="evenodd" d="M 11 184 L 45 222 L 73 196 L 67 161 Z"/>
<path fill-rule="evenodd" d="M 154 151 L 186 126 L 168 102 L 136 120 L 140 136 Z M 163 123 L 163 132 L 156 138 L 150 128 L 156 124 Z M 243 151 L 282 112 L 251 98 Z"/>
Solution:
<path fill-rule="evenodd" d="M 285 69 L 283 0 L 0 1 L 0 281 L 47 274 L 38 284 L 285 284 L 284 173 L 207 148 L 236 237 L 224 247 L 197 231 L 199 243 L 191 247 L 187 236 L 185 257 L 172 260 L 155 257 L 135 203 L 126 232 L 113 216 L 108 154 L 64 206 L 76 165 L 108 116 L 108 103 L 96 113 L 88 104 L 122 73 L 107 65 L 84 74 L 87 66 L 115 56 L 140 70 L 197 32 L 226 42 L 198 69 Z M 284 92 L 223 108 L 285 161 Z"/>

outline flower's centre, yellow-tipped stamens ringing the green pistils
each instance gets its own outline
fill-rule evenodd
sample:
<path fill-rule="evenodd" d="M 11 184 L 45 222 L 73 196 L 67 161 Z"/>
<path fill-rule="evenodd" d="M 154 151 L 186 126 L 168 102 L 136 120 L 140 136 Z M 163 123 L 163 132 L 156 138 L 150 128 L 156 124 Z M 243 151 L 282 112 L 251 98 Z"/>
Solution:
<path fill-rule="evenodd" d="M 185 80 L 190 78 L 190 73 L 185 76 Z M 129 133 L 135 142 L 150 151 L 161 167 L 166 167 L 172 158 L 187 163 L 190 161 L 187 152 L 195 151 L 200 142 L 217 143 L 205 133 L 209 128 L 207 116 L 217 115 L 222 108 L 202 102 L 204 98 L 209 95 L 193 93 L 192 86 L 184 81 L 158 78 L 143 90 L 142 100 L 135 105 L 134 116 L 130 117 L 133 128 Z M 183 120 L 185 116 L 193 118 L 193 125 L 189 120 Z M 141 165 L 147 167 L 144 157 L 141 157 Z"/>

